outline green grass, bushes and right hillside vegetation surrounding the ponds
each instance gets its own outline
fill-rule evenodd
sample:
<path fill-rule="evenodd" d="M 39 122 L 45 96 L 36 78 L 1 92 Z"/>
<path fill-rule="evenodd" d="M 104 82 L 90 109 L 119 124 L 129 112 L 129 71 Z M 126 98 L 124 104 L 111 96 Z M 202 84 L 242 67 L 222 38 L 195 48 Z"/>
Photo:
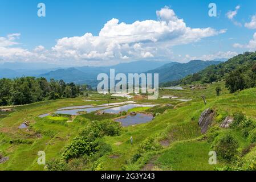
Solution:
<path fill-rule="evenodd" d="M 210 68 L 206 68 L 198 73 L 202 77 L 194 85 L 184 85 L 184 90 L 161 89 L 157 100 L 130 99 L 137 104 L 159 104 L 129 110 L 155 115 L 153 121 L 140 125 L 121 127 L 113 121 L 127 115 L 125 111 L 38 117 L 60 107 L 117 102 L 115 97 L 92 91 L 87 101 L 64 98 L 1 111 L 0 155 L 9 156 L 9 160 L 0 164 L 0 170 L 255 170 L 256 88 L 252 80 L 245 79 L 254 76 L 254 56 L 245 53 L 210 67 L 216 75 L 209 75 Z M 241 67 L 243 71 L 237 72 Z M 245 79 L 243 87 L 227 81 L 237 73 Z M 208 83 L 208 78 L 217 82 Z M 127 100 L 118 98 L 120 102 Z M 198 120 L 208 108 L 214 111 L 213 121 L 202 134 Z M 221 127 L 227 117 L 233 122 Z M 27 129 L 19 129 L 25 122 Z M 36 163 L 38 151 L 46 152 L 47 168 Z M 217 164 L 209 164 L 210 151 L 216 151 Z"/>

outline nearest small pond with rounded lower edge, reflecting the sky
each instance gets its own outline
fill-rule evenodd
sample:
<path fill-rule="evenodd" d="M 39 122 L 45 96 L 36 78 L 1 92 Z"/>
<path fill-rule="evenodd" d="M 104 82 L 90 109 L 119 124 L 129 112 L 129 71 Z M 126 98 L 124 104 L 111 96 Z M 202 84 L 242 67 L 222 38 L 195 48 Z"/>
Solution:
<path fill-rule="evenodd" d="M 152 121 L 153 115 L 138 113 L 136 115 L 128 115 L 125 118 L 115 119 L 116 122 L 121 122 L 122 126 L 137 125 L 140 123 L 147 123 Z"/>

